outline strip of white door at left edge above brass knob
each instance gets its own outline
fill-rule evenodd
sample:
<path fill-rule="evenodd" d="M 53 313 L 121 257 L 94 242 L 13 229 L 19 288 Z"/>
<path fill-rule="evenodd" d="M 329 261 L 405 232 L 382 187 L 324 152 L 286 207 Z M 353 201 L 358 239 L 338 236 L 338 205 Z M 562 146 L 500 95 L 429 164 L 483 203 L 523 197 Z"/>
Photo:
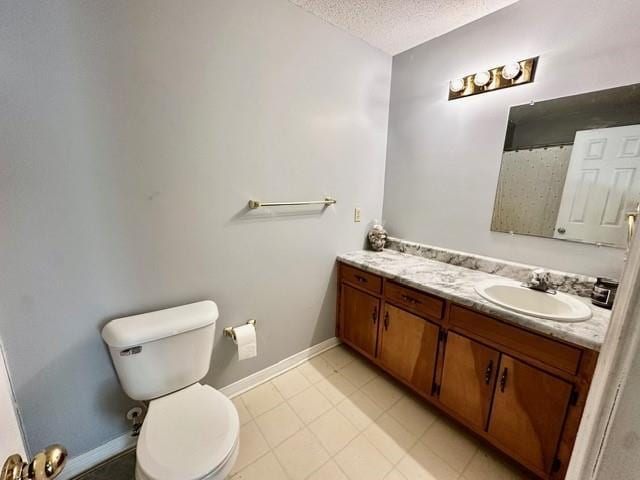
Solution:
<path fill-rule="evenodd" d="M 17 453 L 25 458 L 22 434 L 16 416 L 13 392 L 0 342 L 0 464 Z"/>

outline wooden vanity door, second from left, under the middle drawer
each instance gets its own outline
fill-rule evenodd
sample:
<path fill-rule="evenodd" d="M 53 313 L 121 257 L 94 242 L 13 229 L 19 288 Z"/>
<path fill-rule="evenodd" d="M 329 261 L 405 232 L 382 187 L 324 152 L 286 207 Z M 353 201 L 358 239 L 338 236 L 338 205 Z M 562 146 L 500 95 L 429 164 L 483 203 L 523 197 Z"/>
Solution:
<path fill-rule="evenodd" d="M 421 392 L 431 393 L 439 331 L 433 323 L 387 304 L 378 361 Z"/>

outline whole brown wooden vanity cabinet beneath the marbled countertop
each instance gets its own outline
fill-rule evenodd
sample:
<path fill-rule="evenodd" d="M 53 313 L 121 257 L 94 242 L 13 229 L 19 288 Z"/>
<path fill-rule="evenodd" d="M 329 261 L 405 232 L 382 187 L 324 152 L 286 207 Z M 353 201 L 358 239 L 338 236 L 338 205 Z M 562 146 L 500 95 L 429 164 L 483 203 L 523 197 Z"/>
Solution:
<path fill-rule="evenodd" d="M 564 478 L 597 352 L 342 263 L 338 285 L 338 338 L 539 478 Z"/>

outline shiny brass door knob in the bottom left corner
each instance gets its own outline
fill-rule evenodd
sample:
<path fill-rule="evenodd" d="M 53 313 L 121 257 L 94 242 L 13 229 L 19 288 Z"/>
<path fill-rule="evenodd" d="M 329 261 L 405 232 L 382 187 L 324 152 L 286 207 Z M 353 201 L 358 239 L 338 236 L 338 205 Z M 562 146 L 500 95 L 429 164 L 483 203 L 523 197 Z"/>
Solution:
<path fill-rule="evenodd" d="M 0 480 L 51 480 L 60 475 L 66 463 L 67 449 L 58 444 L 37 453 L 28 464 L 20 455 L 11 455 L 2 467 Z"/>

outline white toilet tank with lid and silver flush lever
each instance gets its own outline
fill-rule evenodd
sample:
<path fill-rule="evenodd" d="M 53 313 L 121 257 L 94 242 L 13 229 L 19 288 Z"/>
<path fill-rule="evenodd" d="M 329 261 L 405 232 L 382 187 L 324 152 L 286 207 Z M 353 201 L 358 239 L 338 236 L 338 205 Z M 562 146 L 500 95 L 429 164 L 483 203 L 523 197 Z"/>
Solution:
<path fill-rule="evenodd" d="M 102 338 L 125 393 L 151 400 L 204 378 L 217 319 L 217 305 L 206 300 L 107 323 Z"/>

